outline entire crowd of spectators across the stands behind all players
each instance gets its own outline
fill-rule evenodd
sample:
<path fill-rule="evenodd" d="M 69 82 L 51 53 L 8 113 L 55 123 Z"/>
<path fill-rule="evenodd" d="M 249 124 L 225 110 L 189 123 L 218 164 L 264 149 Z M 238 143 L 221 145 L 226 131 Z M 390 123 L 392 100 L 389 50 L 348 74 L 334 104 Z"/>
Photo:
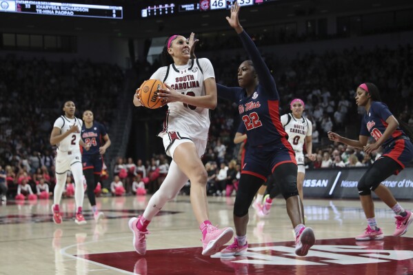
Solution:
<path fill-rule="evenodd" d="M 356 139 L 359 134 L 357 125 L 364 110 L 356 107 L 354 92 L 365 81 L 375 83 L 381 90 L 383 102 L 389 105 L 396 118 L 413 127 L 411 45 L 400 45 L 394 50 L 359 47 L 320 55 L 309 52 L 299 54 L 291 61 L 281 61 L 276 54 L 268 52 L 263 57 L 274 74 L 281 96 L 280 113 L 289 112 L 289 102 L 295 97 L 305 102 L 304 115 L 312 121 L 313 148 L 317 153 L 316 161 L 308 163 L 309 168 L 356 167 L 374 161 L 374 156 L 370 159 L 371 156 L 361 150 L 333 145 L 326 137 L 328 131 L 334 130 Z M 219 52 L 210 58 L 217 83 L 237 86 L 236 69 L 243 59 L 241 56 L 223 57 Z M 159 64 L 141 62 L 137 67 L 139 76 L 145 78 Z M 115 65 L 89 61 L 25 61 L 12 56 L 1 59 L 0 165 L 5 168 L 9 187 L 17 186 L 19 179 L 26 175 L 31 178 L 29 184 L 35 185 L 35 175 L 39 174 L 50 183 L 52 190 L 54 148 L 48 140 L 52 123 L 61 114 L 61 104 L 71 99 L 77 103 L 78 110 L 93 110 L 95 119 L 105 124 L 110 132 L 110 119 L 116 111 L 113 103 L 122 81 L 123 73 Z M 77 116 L 80 116 L 79 111 Z M 216 179 L 221 181 L 214 184 L 216 191 L 213 194 L 227 192 L 227 185 L 236 188 L 236 176 L 231 180 L 223 179 L 223 172 L 221 176 L 219 172 L 221 164 L 225 170 L 236 171 L 232 174 L 239 172 L 239 148 L 233 144 L 239 122 L 236 105 L 219 99 L 216 109 L 211 112 L 210 141 L 203 158 L 209 166 L 207 170 L 215 171 Z M 119 176 L 124 194 L 137 192 L 135 182 L 137 186 L 142 186 L 140 183 L 143 182 L 145 190 L 153 193 L 168 173 L 169 161 L 164 155 L 137 161 L 122 156 L 114 167 L 114 175 Z"/>

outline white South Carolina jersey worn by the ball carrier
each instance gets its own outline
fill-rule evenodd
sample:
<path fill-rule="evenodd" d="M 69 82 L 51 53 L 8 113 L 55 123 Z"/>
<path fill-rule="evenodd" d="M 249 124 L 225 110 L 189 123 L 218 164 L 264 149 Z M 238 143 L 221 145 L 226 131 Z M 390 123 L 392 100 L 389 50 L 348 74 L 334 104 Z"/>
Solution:
<path fill-rule="evenodd" d="M 181 94 L 204 96 L 203 81 L 210 77 L 215 78 L 215 74 L 208 59 L 191 59 L 186 65 L 171 64 L 159 68 L 150 79 L 159 79 Z M 159 136 L 163 136 L 166 132 L 182 132 L 192 138 L 208 139 L 209 128 L 208 108 L 173 102 L 168 103 L 168 112 Z"/>

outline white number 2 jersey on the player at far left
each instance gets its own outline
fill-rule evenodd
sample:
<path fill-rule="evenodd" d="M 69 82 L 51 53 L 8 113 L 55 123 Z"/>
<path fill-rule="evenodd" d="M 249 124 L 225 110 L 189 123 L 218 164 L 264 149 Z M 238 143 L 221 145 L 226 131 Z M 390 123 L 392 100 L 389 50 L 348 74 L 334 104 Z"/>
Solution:
<path fill-rule="evenodd" d="M 77 119 L 76 117 L 74 119 L 68 119 L 66 116 L 60 116 L 56 121 L 54 121 L 53 127 L 59 128 L 61 134 L 63 134 L 64 132 L 68 132 L 68 130 L 70 130 L 70 127 L 74 124 L 77 125 L 79 131 L 66 136 L 66 138 L 63 139 L 63 141 L 59 142 L 57 144 L 58 151 L 68 152 L 80 150 L 80 131 L 82 129 L 83 121 Z"/>

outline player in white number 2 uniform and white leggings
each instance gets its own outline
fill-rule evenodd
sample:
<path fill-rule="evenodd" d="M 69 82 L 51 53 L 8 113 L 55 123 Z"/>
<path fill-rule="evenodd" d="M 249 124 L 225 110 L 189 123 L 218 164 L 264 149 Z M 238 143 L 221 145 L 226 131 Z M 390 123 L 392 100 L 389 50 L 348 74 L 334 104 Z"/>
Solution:
<path fill-rule="evenodd" d="M 52 205 L 53 221 L 57 224 L 62 222 L 59 204 L 70 170 L 76 186 L 74 200 L 76 201 L 77 212 L 74 221 L 78 225 L 83 225 L 86 221 L 82 214 L 84 187 L 82 183 L 82 156 L 79 145 L 83 146 L 85 150 L 89 150 L 90 145 L 86 145 L 81 139 L 80 133 L 83 121 L 74 116 L 76 111 L 74 102 L 66 101 L 63 105 L 63 111 L 65 114 L 54 121 L 52 134 L 50 134 L 50 144 L 57 145 L 55 159 L 56 186 L 54 187 L 54 204 Z"/>

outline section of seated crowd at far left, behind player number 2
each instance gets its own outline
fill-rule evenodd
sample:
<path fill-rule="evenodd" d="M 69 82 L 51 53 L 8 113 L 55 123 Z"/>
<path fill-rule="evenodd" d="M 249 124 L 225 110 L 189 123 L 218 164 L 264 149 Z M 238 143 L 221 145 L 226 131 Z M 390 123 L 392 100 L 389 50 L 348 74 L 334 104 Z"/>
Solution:
<path fill-rule="evenodd" d="M 92 110 L 94 119 L 110 132 L 122 85 L 123 72 L 117 65 L 1 58 L 0 165 L 9 194 L 23 179 L 32 190 L 37 190 L 40 179 L 50 190 L 54 187 L 55 147 L 49 139 L 65 101 L 74 101 L 79 119 L 83 110 Z"/>

